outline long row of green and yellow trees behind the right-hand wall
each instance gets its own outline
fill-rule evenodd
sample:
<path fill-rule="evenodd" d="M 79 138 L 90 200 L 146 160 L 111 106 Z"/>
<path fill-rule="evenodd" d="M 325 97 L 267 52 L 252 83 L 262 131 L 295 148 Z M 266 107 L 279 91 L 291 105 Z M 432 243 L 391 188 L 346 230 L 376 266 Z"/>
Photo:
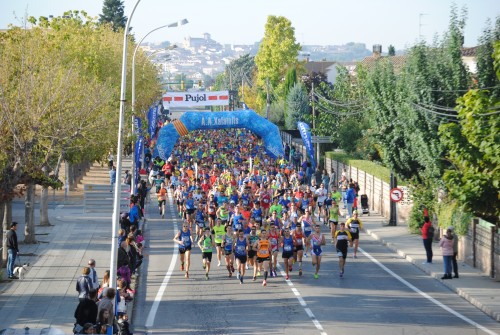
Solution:
<path fill-rule="evenodd" d="M 233 61 L 217 83 L 227 88 L 229 74 L 241 72 L 251 85 L 245 102 L 271 121 L 288 129 L 314 123 L 346 152 L 390 168 L 413 187 L 413 228 L 423 207 L 462 231 L 470 214 L 498 224 L 500 18 L 487 22 L 471 73 L 462 61 L 466 16 L 452 7 L 448 31 L 411 47 L 401 63 L 381 57 L 355 74 L 338 67 L 335 87 L 323 74 L 305 74 L 291 23 L 270 16 L 257 56 Z"/>

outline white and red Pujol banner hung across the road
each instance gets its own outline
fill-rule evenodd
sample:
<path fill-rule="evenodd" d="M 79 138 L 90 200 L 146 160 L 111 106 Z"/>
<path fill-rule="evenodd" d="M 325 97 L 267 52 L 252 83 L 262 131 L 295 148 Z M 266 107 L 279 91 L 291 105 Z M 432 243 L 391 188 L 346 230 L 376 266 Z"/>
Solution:
<path fill-rule="evenodd" d="M 168 92 L 163 95 L 163 107 L 228 106 L 229 92 Z"/>

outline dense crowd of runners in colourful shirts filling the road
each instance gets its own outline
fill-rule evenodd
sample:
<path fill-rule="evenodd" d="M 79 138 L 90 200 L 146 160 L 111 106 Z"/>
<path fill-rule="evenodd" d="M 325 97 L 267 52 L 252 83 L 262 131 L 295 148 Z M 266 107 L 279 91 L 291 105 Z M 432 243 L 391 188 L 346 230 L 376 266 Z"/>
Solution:
<path fill-rule="evenodd" d="M 363 227 L 356 210 L 346 210 L 346 220 L 341 215 L 355 184 L 344 175 L 339 184 L 335 177 L 318 182 L 307 173 L 307 161 L 297 165 L 289 158 L 271 158 L 260 138 L 232 129 L 191 132 L 179 139 L 168 160 L 153 159 L 149 181 L 158 213 L 164 217 L 166 200 L 173 197 L 182 218 L 173 240 L 186 278 L 191 250 L 198 247 L 206 280 L 213 260 L 241 284 L 248 270 L 249 279 L 262 277 L 266 286 L 268 277 L 277 277 L 280 257 L 287 280 L 294 267 L 302 276 L 308 257 L 317 279 L 327 240 L 321 225 L 329 227 L 343 277 L 348 247 L 354 246 L 356 258 Z"/>

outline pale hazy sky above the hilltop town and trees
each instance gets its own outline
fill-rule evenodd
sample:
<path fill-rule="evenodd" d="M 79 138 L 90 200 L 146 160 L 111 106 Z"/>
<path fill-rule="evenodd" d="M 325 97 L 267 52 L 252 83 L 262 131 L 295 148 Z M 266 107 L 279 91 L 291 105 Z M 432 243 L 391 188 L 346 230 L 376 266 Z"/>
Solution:
<path fill-rule="evenodd" d="M 125 0 L 130 16 L 136 0 Z M 264 35 L 268 15 L 285 16 L 301 44 L 392 44 L 404 49 L 419 35 L 431 42 L 447 30 L 450 7 L 468 9 L 465 45 L 474 46 L 487 18 L 500 16 L 499 0 L 141 0 L 132 19 L 133 32 L 142 38 L 151 30 L 183 18 L 189 24 L 158 30 L 145 42 L 202 37 L 207 32 L 220 43 L 251 44 Z M 22 25 L 28 16 L 62 15 L 66 10 L 85 10 L 92 16 L 102 11 L 102 0 L 0 0 L 0 29 Z"/>

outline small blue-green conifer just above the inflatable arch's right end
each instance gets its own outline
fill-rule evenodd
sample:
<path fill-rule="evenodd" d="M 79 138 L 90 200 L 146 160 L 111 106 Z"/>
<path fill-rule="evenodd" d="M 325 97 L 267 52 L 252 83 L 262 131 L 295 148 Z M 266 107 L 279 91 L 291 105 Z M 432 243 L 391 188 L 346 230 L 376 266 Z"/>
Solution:
<path fill-rule="evenodd" d="M 287 113 L 285 125 L 287 129 L 297 129 L 297 122 L 310 122 L 311 109 L 309 96 L 301 83 L 296 83 L 286 99 Z"/>

